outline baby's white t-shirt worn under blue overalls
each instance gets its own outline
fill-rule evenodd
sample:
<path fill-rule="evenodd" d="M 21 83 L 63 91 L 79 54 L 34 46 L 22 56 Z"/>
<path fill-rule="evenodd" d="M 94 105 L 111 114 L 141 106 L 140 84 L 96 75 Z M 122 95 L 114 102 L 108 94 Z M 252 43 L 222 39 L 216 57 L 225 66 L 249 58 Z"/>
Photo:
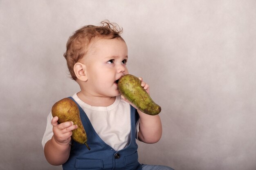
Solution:
<path fill-rule="evenodd" d="M 99 137 L 113 149 L 121 150 L 130 142 L 130 104 L 117 96 L 115 102 L 107 107 L 90 106 L 74 94 L 73 99 L 81 106 Z M 43 135 L 42 145 L 52 139 L 52 113 L 47 117 L 46 130 Z M 139 132 L 139 121 L 136 124 L 136 133 Z"/>

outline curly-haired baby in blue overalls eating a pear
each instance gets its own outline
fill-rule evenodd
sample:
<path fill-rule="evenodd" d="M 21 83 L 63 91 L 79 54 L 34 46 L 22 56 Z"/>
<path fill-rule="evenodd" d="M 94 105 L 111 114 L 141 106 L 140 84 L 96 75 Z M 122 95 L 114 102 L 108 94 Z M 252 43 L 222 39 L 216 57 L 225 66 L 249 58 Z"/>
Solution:
<path fill-rule="evenodd" d="M 79 107 L 91 150 L 72 141 L 77 125 L 72 121 L 58 124 L 58 117 L 50 113 L 42 140 L 50 164 L 63 165 L 63 170 L 172 170 L 138 162 L 136 139 L 156 143 L 162 124 L 159 115 L 142 113 L 120 96 L 117 81 L 128 74 L 128 49 L 121 32 L 117 24 L 103 21 L 101 26 L 83 26 L 67 41 L 64 57 L 81 88 L 72 99 Z M 149 94 L 148 84 L 139 79 Z"/>

